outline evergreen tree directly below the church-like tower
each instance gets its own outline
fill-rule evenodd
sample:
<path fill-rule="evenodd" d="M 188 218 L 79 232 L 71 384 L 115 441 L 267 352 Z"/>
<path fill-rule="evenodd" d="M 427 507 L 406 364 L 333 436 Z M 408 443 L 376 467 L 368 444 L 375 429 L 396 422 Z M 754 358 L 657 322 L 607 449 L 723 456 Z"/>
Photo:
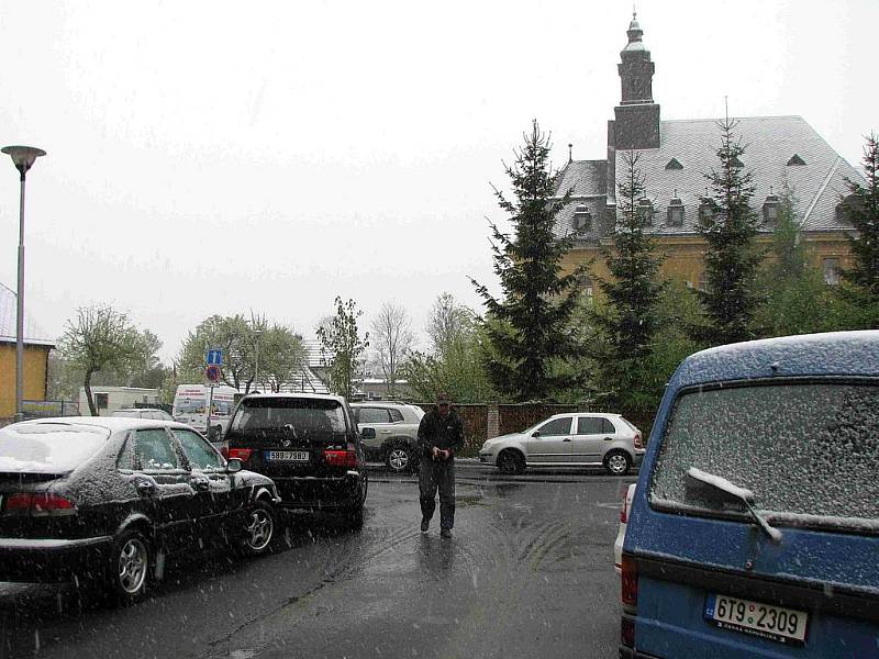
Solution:
<path fill-rule="evenodd" d="M 611 278 L 594 277 L 605 303 L 596 305 L 593 319 L 603 340 L 592 344 L 597 380 L 611 409 L 643 411 L 655 406 L 655 386 L 645 377 L 658 326 L 657 304 L 663 293 L 658 279 L 661 259 L 645 232 L 647 190 L 638 161 L 641 154 L 622 154 L 616 188 L 617 214 L 613 250 L 602 249 Z"/>

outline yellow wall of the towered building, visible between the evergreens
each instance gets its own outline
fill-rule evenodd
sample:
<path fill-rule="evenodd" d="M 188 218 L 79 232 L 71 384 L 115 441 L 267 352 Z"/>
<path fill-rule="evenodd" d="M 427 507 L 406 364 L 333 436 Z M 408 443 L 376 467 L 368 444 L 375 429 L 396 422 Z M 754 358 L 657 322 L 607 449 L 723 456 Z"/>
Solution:
<path fill-rule="evenodd" d="M 839 232 L 809 233 L 804 234 L 803 242 L 806 246 L 806 254 L 812 264 L 821 268 L 825 258 L 838 258 L 842 268 L 848 268 L 852 264 L 852 250 L 848 241 Z M 656 252 L 664 254 L 666 259 L 663 261 L 660 272 L 665 278 L 681 279 L 690 282 L 693 287 L 699 286 L 699 278 L 705 268 L 704 254 L 705 242 L 698 235 L 693 236 L 660 236 L 655 237 Z M 760 235 L 757 245 L 761 249 L 769 247 L 771 237 Z M 610 247 L 612 241 L 607 239 L 605 246 Z M 602 279 L 608 279 L 608 268 L 601 258 L 597 246 L 576 247 L 568 252 L 561 259 L 561 269 L 570 272 L 581 263 L 592 263 L 590 272 Z M 594 292 L 599 293 L 597 287 Z"/>

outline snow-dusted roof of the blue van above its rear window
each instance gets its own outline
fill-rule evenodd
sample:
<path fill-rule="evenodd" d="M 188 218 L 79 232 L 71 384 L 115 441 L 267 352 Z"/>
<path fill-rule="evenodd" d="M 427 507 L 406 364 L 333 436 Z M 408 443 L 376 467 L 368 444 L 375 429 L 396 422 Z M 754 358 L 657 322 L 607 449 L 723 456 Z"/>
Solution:
<path fill-rule="evenodd" d="M 669 384 L 678 389 L 797 376 L 879 376 L 879 331 L 803 334 L 709 348 L 685 359 Z"/>

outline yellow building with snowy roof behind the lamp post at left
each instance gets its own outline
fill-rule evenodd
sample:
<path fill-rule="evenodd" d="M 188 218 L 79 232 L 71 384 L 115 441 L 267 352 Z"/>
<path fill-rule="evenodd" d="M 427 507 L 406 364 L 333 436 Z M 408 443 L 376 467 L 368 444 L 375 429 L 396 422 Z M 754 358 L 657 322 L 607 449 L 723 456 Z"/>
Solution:
<path fill-rule="evenodd" d="M 15 291 L 0 283 L 0 424 L 15 416 Z M 46 400 L 48 354 L 54 347 L 33 323 L 25 321 L 25 401 Z"/>

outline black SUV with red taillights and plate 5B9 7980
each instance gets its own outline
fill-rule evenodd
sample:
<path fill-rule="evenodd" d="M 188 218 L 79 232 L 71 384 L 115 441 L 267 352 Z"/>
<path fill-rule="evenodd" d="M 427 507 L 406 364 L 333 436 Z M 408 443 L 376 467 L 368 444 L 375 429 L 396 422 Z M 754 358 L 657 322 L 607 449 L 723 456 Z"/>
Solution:
<path fill-rule="evenodd" d="M 363 523 L 368 478 L 357 425 L 344 398 L 274 393 L 243 398 L 226 433 L 229 456 L 265 473 L 290 511 Z"/>

